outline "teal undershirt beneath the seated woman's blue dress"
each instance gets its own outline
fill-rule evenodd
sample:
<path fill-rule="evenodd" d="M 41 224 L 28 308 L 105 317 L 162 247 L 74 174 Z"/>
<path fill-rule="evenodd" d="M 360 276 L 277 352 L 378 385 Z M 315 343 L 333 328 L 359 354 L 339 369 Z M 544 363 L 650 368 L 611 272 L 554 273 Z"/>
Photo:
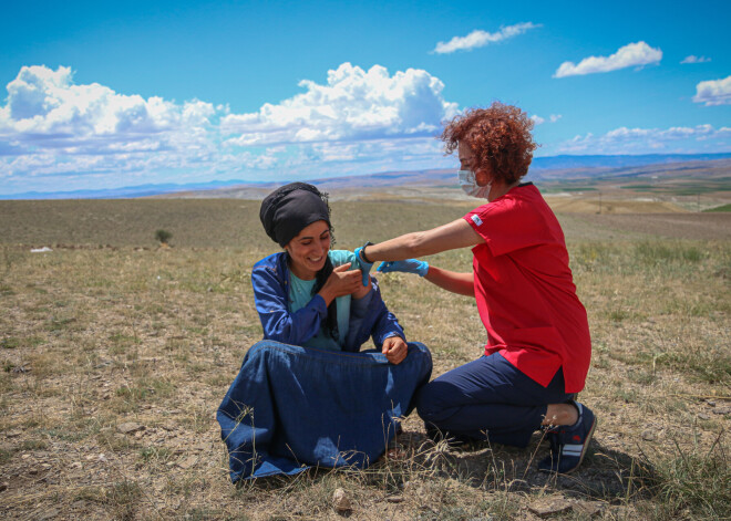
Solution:
<path fill-rule="evenodd" d="M 353 262 L 356 256 L 352 251 L 348 250 L 330 250 L 328 252 L 330 261 L 334 268 Z M 289 310 L 291 313 L 301 310 L 312 300 L 312 288 L 315 288 L 315 280 L 302 280 L 295 273 L 289 272 L 290 286 L 289 286 Z M 306 347 L 316 347 L 329 351 L 342 351 L 342 344 L 348 336 L 348 329 L 350 322 L 350 295 L 338 296 L 336 299 L 338 309 L 338 342 L 331 336 L 323 334 L 322 330 L 317 335 L 305 342 Z"/>

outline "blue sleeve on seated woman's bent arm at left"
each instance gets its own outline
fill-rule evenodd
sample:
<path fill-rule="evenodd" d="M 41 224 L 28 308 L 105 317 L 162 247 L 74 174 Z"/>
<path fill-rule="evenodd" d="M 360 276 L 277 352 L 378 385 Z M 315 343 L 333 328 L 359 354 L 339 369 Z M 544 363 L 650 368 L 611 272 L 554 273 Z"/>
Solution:
<path fill-rule="evenodd" d="M 255 265 L 251 284 L 266 340 L 303 345 L 320 331 L 321 321 L 328 315 L 322 296 L 312 296 L 305 308 L 290 313 L 289 291 L 271 269 Z"/>

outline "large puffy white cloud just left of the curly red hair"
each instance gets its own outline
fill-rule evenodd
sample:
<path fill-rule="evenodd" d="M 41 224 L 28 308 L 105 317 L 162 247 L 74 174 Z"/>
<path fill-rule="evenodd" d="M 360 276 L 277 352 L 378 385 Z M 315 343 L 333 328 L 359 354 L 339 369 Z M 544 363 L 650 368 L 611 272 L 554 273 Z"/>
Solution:
<path fill-rule="evenodd" d="M 442 96 L 444 84 L 426 71 L 393 76 L 380 66 L 364 71 L 350 63 L 328 71 L 326 85 L 303 80 L 307 92 L 253 114 L 222 118 L 229 145 L 357 140 L 434 134 L 456 114 Z"/>

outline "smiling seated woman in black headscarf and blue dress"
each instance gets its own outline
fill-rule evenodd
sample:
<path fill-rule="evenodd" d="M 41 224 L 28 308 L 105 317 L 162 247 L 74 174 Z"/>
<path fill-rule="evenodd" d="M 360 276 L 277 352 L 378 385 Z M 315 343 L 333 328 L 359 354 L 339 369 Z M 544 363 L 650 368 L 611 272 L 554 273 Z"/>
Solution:
<path fill-rule="evenodd" d="M 309 466 L 366 468 L 429 382 L 429 350 L 405 343 L 375 279 L 363 286 L 349 251 L 330 250 L 327 196 L 292 183 L 261 204 L 285 251 L 254 265 L 264 340 L 246 354 L 217 413 L 230 477 L 294 475 Z M 373 338 L 379 351 L 360 352 Z"/>

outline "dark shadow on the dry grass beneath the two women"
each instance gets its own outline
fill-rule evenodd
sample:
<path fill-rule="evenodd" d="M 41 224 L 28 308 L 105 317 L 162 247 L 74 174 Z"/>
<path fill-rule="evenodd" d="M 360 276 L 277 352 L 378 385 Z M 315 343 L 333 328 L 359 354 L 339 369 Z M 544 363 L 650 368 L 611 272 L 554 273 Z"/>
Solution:
<path fill-rule="evenodd" d="M 537 470 L 537 462 L 548 455 L 548 442 L 534 435 L 525 449 L 488 442 L 467 444 L 457 448 L 446 442 L 434 444 L 423 433 L 403 433 L 401 451 L 394 458 L 381 458 L 366 473 L 373 482 L 390 482 L 401 488 L 410 479 L 424 476 L 451 478 L 473 488 L 524 494 L 560 492 L 585 501 L 619 503 L 646 499 L 653 480 L 647 462 L 604 447 L 591 440 L 584 462 L 570 475 L 549 475 Z M 342 471 L 342 470 L 338 470 Z M 322 479 L 330 469 L 310 469 L 308 479 Z M 352 471 L 362 478 L 363 471 Z M 388 475 L 388 479 L 384 476 Z M 367 479 L 368 479 L 367 478 Z M 298 478 L 272 477 L 244 484 L 260 490 L 289 488 Z"/>

